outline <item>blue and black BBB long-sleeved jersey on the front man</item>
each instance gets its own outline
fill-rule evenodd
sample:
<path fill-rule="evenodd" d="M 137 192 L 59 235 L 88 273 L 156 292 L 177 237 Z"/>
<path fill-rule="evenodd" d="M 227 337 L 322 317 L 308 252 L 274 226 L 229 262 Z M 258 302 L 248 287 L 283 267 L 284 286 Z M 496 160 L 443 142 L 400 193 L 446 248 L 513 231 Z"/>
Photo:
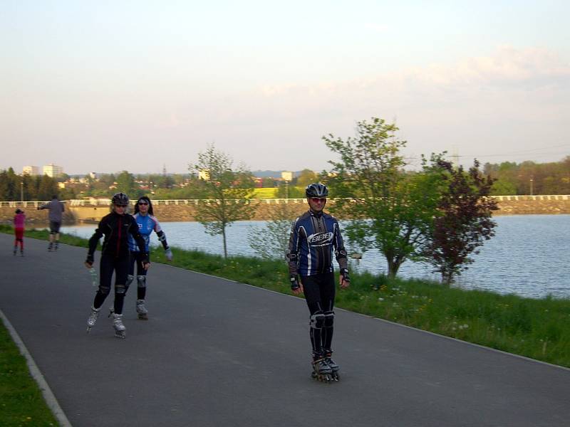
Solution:
<path fill-rule="evenodd" d="M 309 210 L 295 220 L 287 252 L 291 276 L 331 273 L 333 252 L 341 270 L 347 269 L 346 249 L 334 216 Z"/>

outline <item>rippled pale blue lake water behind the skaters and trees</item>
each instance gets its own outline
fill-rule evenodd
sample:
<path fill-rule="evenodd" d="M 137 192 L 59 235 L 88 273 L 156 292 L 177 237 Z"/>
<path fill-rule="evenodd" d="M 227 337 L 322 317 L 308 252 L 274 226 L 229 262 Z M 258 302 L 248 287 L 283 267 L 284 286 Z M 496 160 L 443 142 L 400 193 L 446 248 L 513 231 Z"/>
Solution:
<path fill-rule="evenodd" d="M 570 297 L 570 215 L 497 216 L 497 236 L 487 241 L 475 263 L 465 271 L 457 285 L 499 293 L 516 293 L 525 297 Z M 249 247 L 247 233 L 264 221 L 239 221 L 228 228 L 229 255 L 256 255 Z M 207 253 L 223 253 L 221 236 L 209 236 L 196 222 L 162 223 L 168 243 Z M 88 226 L 63 226 L 63 233 L 90 237 L 95 229 Z M 156 245 L 158 241 L 152 238 Z M 349 244 L 347 244 L 347 247 Z M 364 253 L 356 270 L 372 273 L 387 271 L 385 260 L 376 251 Z M 403 278 L 430 278 L 429 265 L 406 261 L 398 272 Z"/>

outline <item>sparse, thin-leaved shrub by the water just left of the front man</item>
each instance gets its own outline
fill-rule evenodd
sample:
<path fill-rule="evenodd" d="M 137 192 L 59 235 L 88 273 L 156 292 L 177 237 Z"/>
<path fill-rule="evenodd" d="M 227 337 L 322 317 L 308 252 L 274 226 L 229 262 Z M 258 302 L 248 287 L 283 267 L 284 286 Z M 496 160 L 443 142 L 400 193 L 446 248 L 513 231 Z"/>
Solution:
<path fill-rule="evenodd" d="M 293 204 L 279 204 L 264 226 L 252 227 L 247 234 L 249 246 L 261 258 L 284 258 L 289 246 L 291 223 L 296 216 Z"/>

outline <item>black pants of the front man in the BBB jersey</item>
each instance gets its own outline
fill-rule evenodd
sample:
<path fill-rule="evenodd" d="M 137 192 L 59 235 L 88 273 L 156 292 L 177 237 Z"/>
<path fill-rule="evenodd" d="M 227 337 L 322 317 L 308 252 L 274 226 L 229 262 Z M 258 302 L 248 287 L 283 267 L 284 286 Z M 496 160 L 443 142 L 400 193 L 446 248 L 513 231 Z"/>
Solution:
<path fill-rule="evenodd" d="M 332 353 L 335 285 L 333 273 L 301 276 L 305 300 L 311 313 L 309 335 L 313 358 Z"/>

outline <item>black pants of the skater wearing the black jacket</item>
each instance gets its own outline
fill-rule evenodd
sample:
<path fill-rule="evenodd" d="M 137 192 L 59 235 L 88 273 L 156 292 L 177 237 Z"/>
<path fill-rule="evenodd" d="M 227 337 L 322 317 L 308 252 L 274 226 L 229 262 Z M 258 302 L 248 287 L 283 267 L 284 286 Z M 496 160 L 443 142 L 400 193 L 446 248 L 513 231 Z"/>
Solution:
<path fill-rule="evenodd" d="M 101 255 L 99 271 L 99 290 L 95 294 L 93 307 L 99 308 L 111 290 L 111 278 L 115 272 L 115 302 L 113 308 L 118 315 L 123 314 L 123 302 L 127 293 L 127 275 L 129 271 L 129 257 L 115 258 L 113 255 Z"/>

